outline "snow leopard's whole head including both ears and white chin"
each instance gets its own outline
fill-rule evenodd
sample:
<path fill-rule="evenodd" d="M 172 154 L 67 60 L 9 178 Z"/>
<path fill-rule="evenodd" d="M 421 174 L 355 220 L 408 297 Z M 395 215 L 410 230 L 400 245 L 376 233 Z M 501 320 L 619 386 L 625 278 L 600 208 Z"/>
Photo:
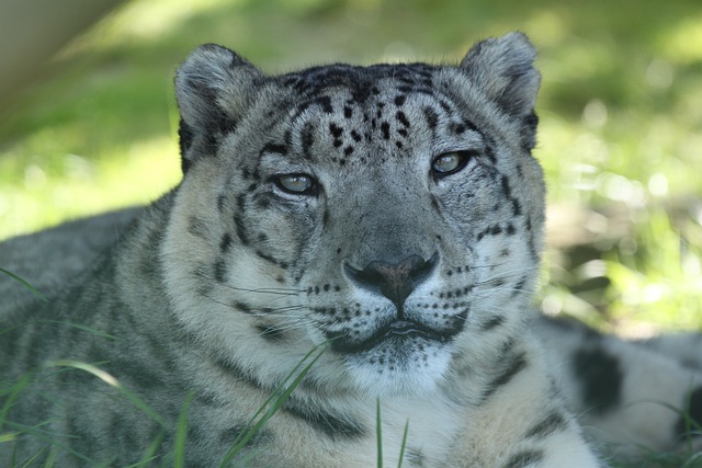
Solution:
<path fill-rule="evenodd" d="M 270 385 L 325 342 L 325 375 L 374 395 L 509 359 L 544 218 L 533 58 L 511 34 L 458 66 L 265 76 L 197 49 L 177 77 L 185 175 L 163 250 L 181 321 Z"/>

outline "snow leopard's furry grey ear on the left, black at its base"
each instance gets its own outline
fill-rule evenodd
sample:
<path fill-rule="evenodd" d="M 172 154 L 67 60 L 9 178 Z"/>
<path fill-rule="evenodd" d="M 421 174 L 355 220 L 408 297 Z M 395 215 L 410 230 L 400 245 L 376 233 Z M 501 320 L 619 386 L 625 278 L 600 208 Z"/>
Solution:
<path fill-rule="evenodd" d="M 176 72 L 183 173 L 212 156 L 233 132 L 263 75 L 246 59 L 215 44 L 197 47 Z"/>

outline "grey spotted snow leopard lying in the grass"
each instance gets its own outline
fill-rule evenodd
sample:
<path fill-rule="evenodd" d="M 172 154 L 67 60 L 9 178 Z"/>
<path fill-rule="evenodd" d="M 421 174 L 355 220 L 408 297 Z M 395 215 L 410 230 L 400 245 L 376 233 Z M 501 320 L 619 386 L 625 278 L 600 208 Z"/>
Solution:
<path fill-rule="evenodd" d="M 534 59 L 521 33 L 456 65 L 283 75 L 195 49 L 178 186 L 0 244 L 48 296 L 0 289 L 0 460 L 599 467 L 589 432 L 673 446 L 697 361 L 533 312 Z"/>

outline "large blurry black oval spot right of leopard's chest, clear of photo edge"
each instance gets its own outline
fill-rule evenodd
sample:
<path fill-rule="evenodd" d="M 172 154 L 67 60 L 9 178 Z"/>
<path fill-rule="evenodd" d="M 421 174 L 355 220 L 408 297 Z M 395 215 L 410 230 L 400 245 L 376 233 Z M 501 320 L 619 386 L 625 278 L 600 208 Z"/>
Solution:
<path fill-rule="evenodd" d="M 604 413 L 620 402 L 623 376 L 614 356 L 600 347 L 579 350 L 573 364 L 586 407 Z"/>

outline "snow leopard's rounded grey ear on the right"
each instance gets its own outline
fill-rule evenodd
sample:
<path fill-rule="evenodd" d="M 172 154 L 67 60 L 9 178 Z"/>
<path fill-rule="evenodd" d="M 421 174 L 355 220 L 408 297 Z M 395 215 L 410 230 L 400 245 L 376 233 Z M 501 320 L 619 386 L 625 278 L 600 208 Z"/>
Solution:
<path fill-rule="evenodd" d="M 460 69 L 509 115 L 533 115 L 541 75 L 534 68 L 536 50 L 522 33 L 477 43 Z"/>

